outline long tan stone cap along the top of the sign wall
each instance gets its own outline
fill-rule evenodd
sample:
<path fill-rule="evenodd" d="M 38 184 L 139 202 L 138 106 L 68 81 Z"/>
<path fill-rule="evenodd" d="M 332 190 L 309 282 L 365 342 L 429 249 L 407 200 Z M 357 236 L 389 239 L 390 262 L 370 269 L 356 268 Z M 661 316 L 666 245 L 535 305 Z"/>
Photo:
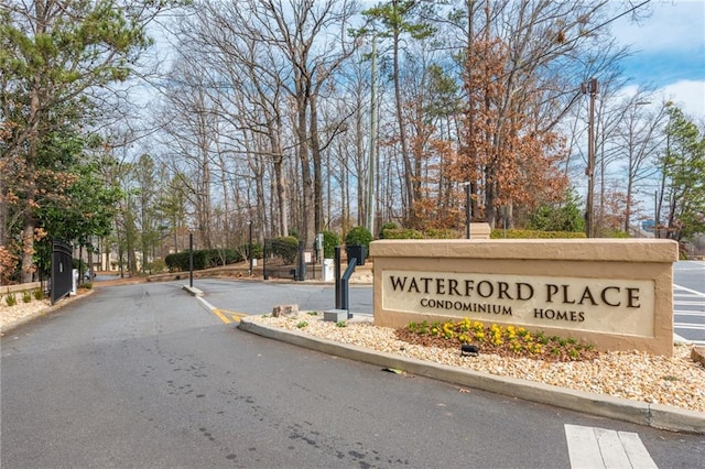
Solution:
<path fill-rule="evenodd" d="M 370 257 L 675 262 L 679 244 L 647 238 L 379 240 L 370 243 Z"/>

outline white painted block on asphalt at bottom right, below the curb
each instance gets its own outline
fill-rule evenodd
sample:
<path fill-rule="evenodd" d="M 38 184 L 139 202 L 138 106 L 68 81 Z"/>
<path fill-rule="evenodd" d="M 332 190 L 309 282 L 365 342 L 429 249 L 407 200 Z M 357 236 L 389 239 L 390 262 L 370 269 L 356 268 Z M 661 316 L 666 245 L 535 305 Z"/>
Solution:
<path fill-rule="evenodd" d="M 565 425 L 571 468 L 657 468 L 639 435 L 606 428 Z"/>

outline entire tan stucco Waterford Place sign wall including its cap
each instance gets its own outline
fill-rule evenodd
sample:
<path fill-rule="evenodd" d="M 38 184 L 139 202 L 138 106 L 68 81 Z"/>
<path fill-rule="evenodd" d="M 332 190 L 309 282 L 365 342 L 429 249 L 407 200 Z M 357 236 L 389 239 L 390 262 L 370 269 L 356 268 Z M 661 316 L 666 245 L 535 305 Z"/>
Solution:
<path fill-rule="evenodd" d="M 370 254 L 380 326 L 468 317 L 673 353 L 673 241 L 383 240 Z"/>

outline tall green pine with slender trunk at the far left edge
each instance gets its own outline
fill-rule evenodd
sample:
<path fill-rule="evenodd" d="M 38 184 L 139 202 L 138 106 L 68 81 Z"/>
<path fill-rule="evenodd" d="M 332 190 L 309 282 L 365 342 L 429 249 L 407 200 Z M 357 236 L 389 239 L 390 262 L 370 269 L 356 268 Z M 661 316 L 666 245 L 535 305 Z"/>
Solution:
<path fill-rule="evenodd" d="M 0 143 L 0 155 L 15 176 L 1 188 L 3 197 L 17 197 L 23 282 L 35 271 L 37 210 L 54 190 L 42 176 L 54 172 L 61 159 L 55 132 L 90 126 L 105 102 L 100 91 L 129 77 L 150 45 L 147 22 L 166 4 L 7 0 L 0 6 L 0 121 L 11 133 Z M 9 234 L 6 229 L 0 243 Z"/>

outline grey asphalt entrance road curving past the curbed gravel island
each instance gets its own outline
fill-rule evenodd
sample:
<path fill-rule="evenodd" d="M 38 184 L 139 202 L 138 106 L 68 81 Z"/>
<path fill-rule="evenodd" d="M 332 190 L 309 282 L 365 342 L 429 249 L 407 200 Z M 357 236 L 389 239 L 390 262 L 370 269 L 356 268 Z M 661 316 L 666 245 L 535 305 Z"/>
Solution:
<path fill-rule="evenodd" d="M 196 286 L 218 307 L 250 313 L 333 301 L 332 288 L 316 285 Z M 370 288 L 351 288 L 351 309 L 365 305 L 371 310 Z M 0 348 L 3 469 L 566 468 L 586 461 L 585 432 L 636 436 L 658 467 L 705 460 L 702 436 L 460 390 L 242 332 L 181 283 L 99 288 L 6 335 Z"/>

